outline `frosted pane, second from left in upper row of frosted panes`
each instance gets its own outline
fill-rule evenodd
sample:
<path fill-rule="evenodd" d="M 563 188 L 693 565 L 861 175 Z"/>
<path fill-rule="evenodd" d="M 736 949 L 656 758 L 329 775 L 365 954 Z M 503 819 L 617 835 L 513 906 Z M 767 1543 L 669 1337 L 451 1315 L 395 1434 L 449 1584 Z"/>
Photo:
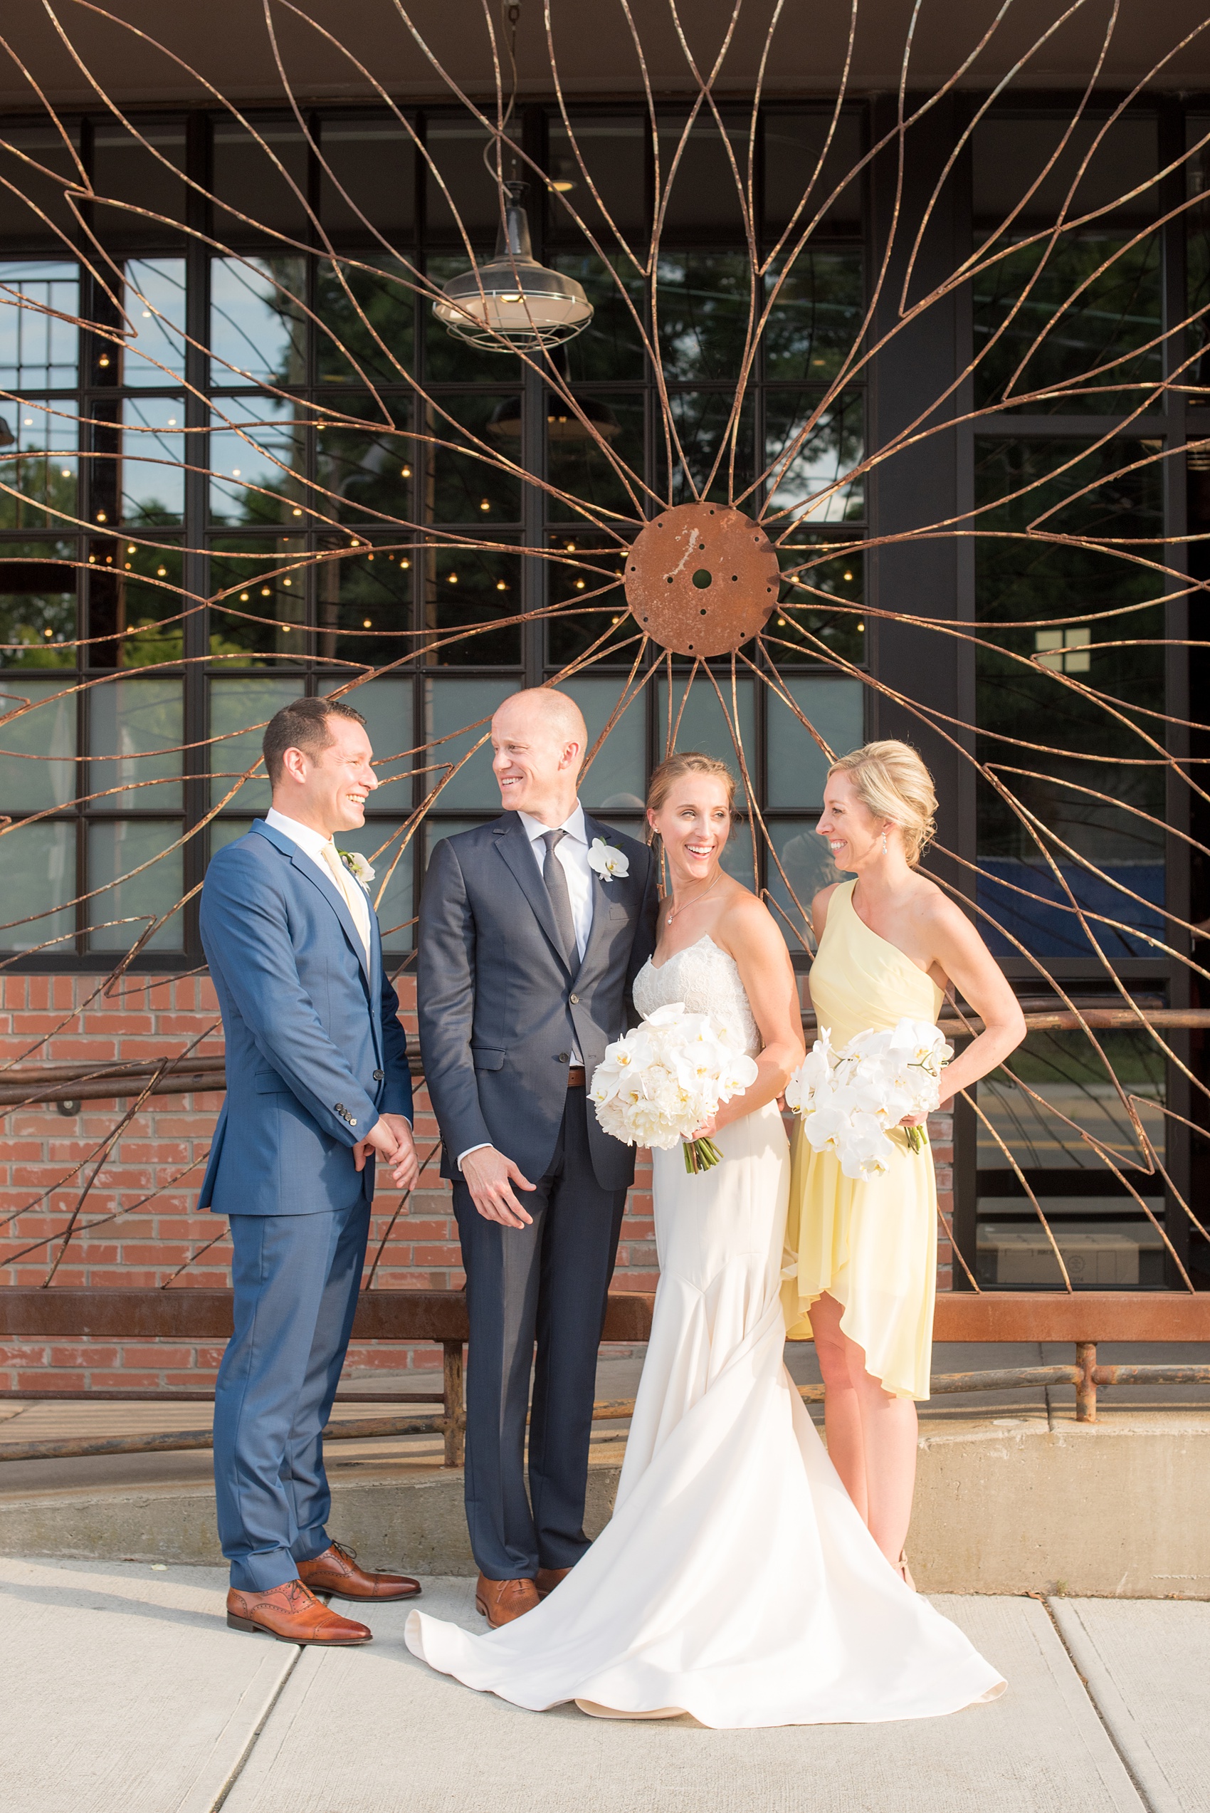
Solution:
<path fill-rule="evenodd" d="M 89 792 L 103 794 L 105 812 L 156 810 L 181 805 L 181 682 L 167 674 L 112 680 L 89 693 Z M 159 751 L 167 751 L 159 754 Z M 159 781 L 139 787 L 138 781 Z M 127 785 L 129 783 L 129 785 Z M 123 787 L 123 792 L 112 792 Z"/>

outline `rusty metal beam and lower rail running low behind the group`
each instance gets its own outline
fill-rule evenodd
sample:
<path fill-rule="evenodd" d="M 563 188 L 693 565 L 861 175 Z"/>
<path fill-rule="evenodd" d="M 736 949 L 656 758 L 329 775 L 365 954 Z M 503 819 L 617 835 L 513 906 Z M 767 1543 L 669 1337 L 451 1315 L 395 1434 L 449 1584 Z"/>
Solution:
<path fill-rule="evenodd" d="M 650 1334 L 654 1296 L 638 1291 L 610 1293 L 601 1340 L 641 1345 Z M 125 1291 L 125 1289 L 0 1289 L 0 1336 L 13 1340 L 165 1340 L 225 1342 L 232 1333 L 230 1291 Z M 1210 1342 L 1210 1293 L 1167 1291 L 1060 1291 L 1036 1293 L 946 1293 L 936 1298 L 936 1342 L 1071 1342 L 1072 1365 L 1000 1367 L 987 1372 L 933 1376 L 933 1392 L 1020 1391 L 1043 1385 L 1076 1387 L 1076 1418 L 1096 1420 L 1098 1387 L 1167 1385 L 1210 1382 L 1210 1365 L 1098 1365 L 1098 1342 Z M 467 1340 L 466 1298 L 460 1291 L 362 1291 L 353 1322 L 353 1340 L 433 1342 L 442 1347 L 442 1389 L 411 1392 L 337 1392 L 337 1403 L 420 1405 L 438 1403 L 429 1414 L 342 1418 L 330 1423 L 326 1440 L 366 1436 L 442 1434 L 446 1465 L 460 1467 L 464 1454 L 462 1351 Z M 799 1387 L 802 1398 L 819 1401 L 822 1385 Z M 5 1391 L 0 1398 L 24 1401 L 138 1401 L 201 1403 L 214 1391 Z M 630 1416 L 632 1400 L 598 1403 L 594 1420 Z M 210 1447 L 210 1430 L 178 1430 L 112 1440 L 0 1443 L 0 1459 L 65 1459 L 85 1454 L 139 1454 L 167 1449 Z"/>

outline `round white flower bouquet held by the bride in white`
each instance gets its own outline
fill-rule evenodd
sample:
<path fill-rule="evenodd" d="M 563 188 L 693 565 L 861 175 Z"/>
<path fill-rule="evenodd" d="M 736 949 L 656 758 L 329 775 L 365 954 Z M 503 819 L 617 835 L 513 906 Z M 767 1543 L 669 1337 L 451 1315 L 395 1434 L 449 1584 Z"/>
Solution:
<path fill-rule="evenodd" d="M 685 1169 L 708 1171 L 723 1153 L 690 1133 L 755 1077 L 754 1059 L 715 1019 L 670 1001 L 607 1046 L 589 1093 L 596 1119 L 623 1146 L 668 1151 L 683 1140 Z"/>

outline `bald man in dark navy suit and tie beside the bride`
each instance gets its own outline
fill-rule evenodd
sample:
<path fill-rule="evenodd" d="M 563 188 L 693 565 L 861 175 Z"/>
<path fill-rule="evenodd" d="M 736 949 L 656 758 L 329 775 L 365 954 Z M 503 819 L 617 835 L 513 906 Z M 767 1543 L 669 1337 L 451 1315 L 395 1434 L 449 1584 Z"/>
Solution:
<path fill-rule="evenodd" d="M 514 693 L 491 743 L 504 818 L 433 850 L 418 1008 L 471 1320 L 476 1605 L 498 1626 L 589 1546 L 596 1349 L 634 1151 L 600 1126 L 585 1077 L 627 1030 L 658 899 L 647 845 L 576 798 L 587 734 L 572 698 Z"/>

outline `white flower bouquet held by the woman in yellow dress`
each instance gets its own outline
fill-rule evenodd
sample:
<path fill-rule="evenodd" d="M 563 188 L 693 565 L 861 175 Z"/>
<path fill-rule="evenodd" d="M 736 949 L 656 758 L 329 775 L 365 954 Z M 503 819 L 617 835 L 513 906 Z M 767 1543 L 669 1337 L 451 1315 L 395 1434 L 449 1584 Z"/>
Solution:
<path fill-rule="evenodd" d="M 786 1104 L 802 1120 L 813 1151 L 831 1151 L 846 1177 L 880 1177 L 893 1153 L 888 1133 L 904 1115 L 927 1115 L 940 1102 L 942 1070 L 955 1055 L 929 1021 L 900 1019 L 882 1032 L 859 1032 L 839 1052 L 826 1026 L 786 1084 Z M 913 1151 L 924 1128 L 904 1128 Z"/>

